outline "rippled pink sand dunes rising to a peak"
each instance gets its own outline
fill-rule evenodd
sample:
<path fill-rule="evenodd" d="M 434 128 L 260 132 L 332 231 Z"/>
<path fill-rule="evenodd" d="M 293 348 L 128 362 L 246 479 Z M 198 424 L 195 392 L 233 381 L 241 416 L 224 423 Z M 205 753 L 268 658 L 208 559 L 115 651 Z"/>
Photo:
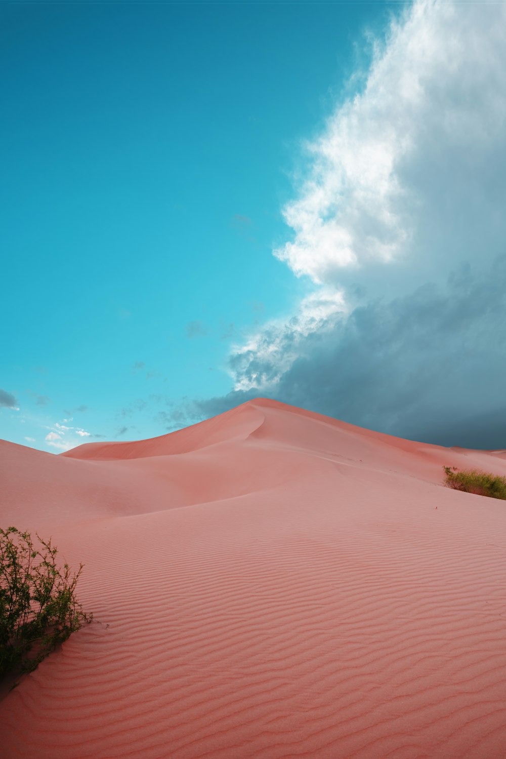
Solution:
<path fill-rule="evenodd" d="M 2 759 L 503 759 L 506 503 L 445 449 L 258 399 L 151 440 L 0 443 L 2 527 L 96 622 L 0 702 Z"/>

